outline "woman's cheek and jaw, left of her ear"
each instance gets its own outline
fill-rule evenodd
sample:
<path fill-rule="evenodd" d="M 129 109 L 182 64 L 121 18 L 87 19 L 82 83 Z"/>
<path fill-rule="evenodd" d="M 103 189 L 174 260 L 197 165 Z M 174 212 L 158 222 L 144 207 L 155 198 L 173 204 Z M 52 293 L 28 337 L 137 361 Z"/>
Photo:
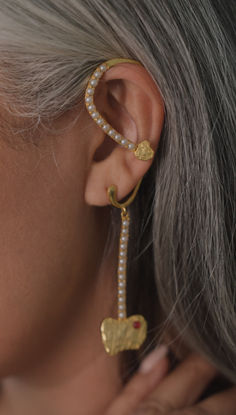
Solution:
<path fill-rule="evenodd" d="M 0 377 L 45 353 L 78 302 L 80 274 L 86 275 L 82 183 L 75 192 L 51 165 L 30 175 L 24 164 L 12 167 L 19 164 L 9 160 L 1 171 Z"/>

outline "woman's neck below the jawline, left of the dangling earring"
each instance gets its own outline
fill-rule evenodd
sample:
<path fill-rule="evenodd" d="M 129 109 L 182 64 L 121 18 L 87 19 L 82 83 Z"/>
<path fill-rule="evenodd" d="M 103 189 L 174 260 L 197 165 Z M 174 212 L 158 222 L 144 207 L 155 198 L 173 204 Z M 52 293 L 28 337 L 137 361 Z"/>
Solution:
<path fill-rule="evenodd" d="M 90 282 L 78 313 L 43 361 L 2 380 L 4 413 L 99 415 L 119 392 L 120 355 L 108 356 L 100 335 L 102 319 L 116 315 L 116 255 L 114 250 L 93 287 Z"/>

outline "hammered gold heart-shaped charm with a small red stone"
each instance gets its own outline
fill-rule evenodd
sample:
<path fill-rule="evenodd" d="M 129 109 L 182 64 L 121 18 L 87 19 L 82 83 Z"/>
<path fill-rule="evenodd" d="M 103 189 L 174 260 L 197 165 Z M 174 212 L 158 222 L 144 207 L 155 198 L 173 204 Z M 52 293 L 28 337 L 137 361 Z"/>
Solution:
<path fill-rule="evenodd" d="M 119 320 L 109 317 L 101 324 L 101 334 L 105 350 L 111 356 L 122 350 L 139 349 L 147 335 L 147 322 L 138 314 Z"/>

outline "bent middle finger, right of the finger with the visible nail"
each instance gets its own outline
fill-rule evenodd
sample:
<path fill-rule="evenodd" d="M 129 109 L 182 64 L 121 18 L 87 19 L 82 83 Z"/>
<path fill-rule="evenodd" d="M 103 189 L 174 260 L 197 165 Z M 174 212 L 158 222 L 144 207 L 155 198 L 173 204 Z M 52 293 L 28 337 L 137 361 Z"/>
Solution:
<path fill-rule="evenodd" d="M 150 395 L 158 410 L 179 409 L 193 405 L 209 382 L 218 374 L 216 368 L 200 355 L 189 355 L 158 385 Z"/>

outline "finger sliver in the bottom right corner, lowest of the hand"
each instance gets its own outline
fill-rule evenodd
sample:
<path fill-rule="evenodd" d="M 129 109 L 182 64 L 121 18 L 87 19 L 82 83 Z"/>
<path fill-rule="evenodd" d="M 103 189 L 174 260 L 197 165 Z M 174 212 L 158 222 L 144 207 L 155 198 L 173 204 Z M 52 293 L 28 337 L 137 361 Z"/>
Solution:
<path fill-rule="evenodd" d="M 236 387 L 210 396 L 200 402 L 197 408 L 209 415 L 236 415 Z"/>

